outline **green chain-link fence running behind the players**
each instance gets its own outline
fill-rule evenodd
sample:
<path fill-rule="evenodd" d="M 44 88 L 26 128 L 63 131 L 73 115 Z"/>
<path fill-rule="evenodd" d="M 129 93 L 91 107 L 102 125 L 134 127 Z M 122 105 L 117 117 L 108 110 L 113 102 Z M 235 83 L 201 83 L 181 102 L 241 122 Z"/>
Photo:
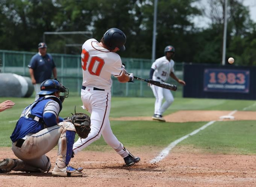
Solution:
<path fill-rule="evenodd" d="M 27 65 L 30 62 L 34 52 L 17 52 L 9 50 L 0 50 L 0 59 L 2 59 L 2 72 L 15 73 L 21 76 L 29 76 Z M 82 86 L 82 68 L 80 55 L 67 55 L 51 53 L 57 66 L 58 80 L 65 87 L 69 88 L 70 95 L 80 95 Z M 126 64 L 127 72 L 133 73 L 137 77 L 148 79 L 151 59 L 121 58 Z M 175 74 L 182 79 L 182 63 L 175 63 Z M 111 88 L 113 96 L 134 96 L 134 97 L 153 97 L 153 92 L 146 82 L 137 81 L 135 83 L 120 83 L 116 78 L 112 78 Z M 169 83 L 177 85 L 173 79 L 169 78 Z M 182 96 L 182 86 L 177 85 L 178 89 L 173 92 L 174 96 Z"/>

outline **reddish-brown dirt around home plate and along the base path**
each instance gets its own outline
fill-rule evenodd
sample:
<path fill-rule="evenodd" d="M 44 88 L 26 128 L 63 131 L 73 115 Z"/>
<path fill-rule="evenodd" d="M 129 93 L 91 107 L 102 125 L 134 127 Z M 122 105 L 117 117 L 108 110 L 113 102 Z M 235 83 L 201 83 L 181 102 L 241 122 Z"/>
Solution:
<path fill-rule="evenodd" d="M 191 116 L 191 119 L 197 121 L 209 121 L 218 120 L 230 112 L 179 111 L 165 116 L 165 119 L 175 122 L 180 119 L 179 122 L 184 122 Z M 246 115 L 245 119 L 253 119 L 256 118 L 255 114 L 239 111 L 233 116 L 235 120 L 244 119 Z M 186 118 L 179 118 L 184 115 Z M 151 120 L 151 117 L 146 119 Z M 158 147 L 130 148 L 130 151 L 141 157 L 141 162 L 132 167 L 123 166 L 123 159 L 114 150 L 81 151 L 71 159 L 70 165 L 84 167 L 83 177 L 52 177 L 53 167 L 49 173 L 12 171 L 0 174 L 1 186 L 256 186 L 254 155 L 205 154 L 194 148 L 177 146 L 160 162 L 150 163 L 161 151 Z M 56 154 L 57 150 L 47 153 L 52 166 Z M 6 157 L 15 158 L 11 148 L 0 148 L 0 160 Z"/>

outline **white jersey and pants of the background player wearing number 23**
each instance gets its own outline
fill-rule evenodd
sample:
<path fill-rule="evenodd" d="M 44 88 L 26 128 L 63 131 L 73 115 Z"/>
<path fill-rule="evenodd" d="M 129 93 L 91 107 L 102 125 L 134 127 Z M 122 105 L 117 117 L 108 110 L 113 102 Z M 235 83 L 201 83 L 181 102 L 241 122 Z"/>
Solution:
<path fill-rule="evenodd" d="M 153 73 L 153 80 L 166 82 L 170 73 L 174 72 L 174 61 L 172 59 L 168 61 L 168 59 L 163 56 L 156 59 L 151 68 L 155 70 Z M 150 88 L 156 97 L 154 114 L 162 115 L 173 103 L 173 94 L 170 90 L 155 85 L 150 85 Z M 162 104 L 164 98 L 165 102 Z"/>

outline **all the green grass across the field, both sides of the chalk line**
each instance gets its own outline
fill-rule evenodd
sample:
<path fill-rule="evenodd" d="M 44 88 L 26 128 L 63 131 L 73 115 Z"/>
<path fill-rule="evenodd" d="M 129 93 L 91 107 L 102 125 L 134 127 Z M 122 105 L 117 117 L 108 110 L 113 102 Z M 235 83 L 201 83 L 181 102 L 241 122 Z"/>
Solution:
<path fill-rule="evenodd" d="M 34 98 L 1 98 L 15 102 L 12 109 L 0 113 L 0 147 L 10 147 L 10 135 L 24 107 Z M 113 97 L 110 117 L 151 116 L 155 98 Z M 229 99 L 175 98 L 173 105 L 164 115 L 179 110 L 247 110 L 256 111 L 255 101 Z M 60 116 L 66 117 L 77 112 L 86 112 L 80 106 L 80 96 L 65 99 Z M 155 121 L 111 121 L 111 128 L 118 140 L 127 147 L 153 147 L 162 149 L 168 144 L 205 125 L 207 122 L 160 123 Z M 256 125 L 254 121 L 215 122 L 203 131 L 188 137 L 179 145 L 195 147 L 207 153 L 255 154 Z M 86 150 L 111 150 L 103 138 L 91 144 Z"/>

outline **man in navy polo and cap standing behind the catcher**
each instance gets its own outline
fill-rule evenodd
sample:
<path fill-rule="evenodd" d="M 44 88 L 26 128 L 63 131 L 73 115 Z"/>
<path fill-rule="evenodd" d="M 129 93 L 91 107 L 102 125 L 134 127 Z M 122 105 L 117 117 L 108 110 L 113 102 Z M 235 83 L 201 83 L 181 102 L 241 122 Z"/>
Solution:
<path fill-rule="evenodd" d="M 40 92 L 40 85 L 47 79 L 53 77 L 57 78 L 56 65 L 53 61 L 52 55 L 46 53 L 47 45 L 44 42 L 38 44 L 38 53 L 35 54 L 28 65 L 29 74 L 34 85 L 36 97 L 39 98 L 38 92 Z"/>

